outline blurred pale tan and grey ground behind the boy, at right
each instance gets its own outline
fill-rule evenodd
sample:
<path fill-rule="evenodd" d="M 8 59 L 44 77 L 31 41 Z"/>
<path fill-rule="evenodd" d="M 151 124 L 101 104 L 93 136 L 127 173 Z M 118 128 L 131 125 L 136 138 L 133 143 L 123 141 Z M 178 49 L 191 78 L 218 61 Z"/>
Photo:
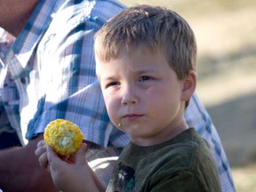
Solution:
<path fill-rule="evenodd" d="M 256 191 L 256 1 L 121 0 L 178 12 L 196 34 L 197 94 L 212 116 L 237 192 Z"/>

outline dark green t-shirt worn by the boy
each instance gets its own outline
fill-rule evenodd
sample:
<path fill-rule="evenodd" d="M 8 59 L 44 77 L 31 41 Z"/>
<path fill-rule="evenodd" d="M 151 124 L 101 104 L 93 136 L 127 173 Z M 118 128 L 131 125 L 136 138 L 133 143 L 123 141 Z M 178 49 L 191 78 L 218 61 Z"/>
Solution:
<path fill-rule="evenodd" d="M 194 128 L 141 147 L 132 142 L 116 163 L 107 191 L 221 191 L 210 149 Z"/>

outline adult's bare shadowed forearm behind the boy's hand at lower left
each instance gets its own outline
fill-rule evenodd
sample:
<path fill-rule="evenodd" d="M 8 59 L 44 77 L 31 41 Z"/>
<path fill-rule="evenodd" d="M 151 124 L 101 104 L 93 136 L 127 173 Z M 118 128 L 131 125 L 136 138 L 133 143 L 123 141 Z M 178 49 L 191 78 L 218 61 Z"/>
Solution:
<path fill-rule="evenodd" d="M 0 150 L 0 188 L 3 191 L 58 191 L 49 172 L 40 166 L 35 156 L 40 134 L 28 145 Z"/>

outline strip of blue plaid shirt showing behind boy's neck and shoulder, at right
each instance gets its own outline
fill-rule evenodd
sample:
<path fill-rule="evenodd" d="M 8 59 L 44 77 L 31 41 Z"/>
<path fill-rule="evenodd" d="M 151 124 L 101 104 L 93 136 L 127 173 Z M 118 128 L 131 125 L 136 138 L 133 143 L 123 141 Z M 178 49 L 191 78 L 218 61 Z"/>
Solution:
<path fill-rule="evenodd" d="M 204 140 L 206 140 L 212 150 L 212 156 L 218 166 L 222 191 L 236 191 L 232 178 L 231 169 L 228 164 L 228 158 L 221 144 L 219 133 L 212 123 L 211 116 L 204 108 L 204 105 L 196 96 L 189 101 L 188 108 L 185 112 L 185 119 L 189 127 L 195 127 Z"/>

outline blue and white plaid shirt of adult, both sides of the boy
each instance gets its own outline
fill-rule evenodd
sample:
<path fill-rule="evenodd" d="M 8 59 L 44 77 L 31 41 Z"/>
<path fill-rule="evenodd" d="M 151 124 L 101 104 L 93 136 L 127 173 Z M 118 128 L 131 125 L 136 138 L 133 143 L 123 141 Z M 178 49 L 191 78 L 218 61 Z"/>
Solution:
<path fill-rule="evenodd" d="M 100 146 L 128 143 L 127 135 L 109 121 L 92 46 L 95 32 L 123 9 L 115 0 L 39 1 L 0 65 L 0 101 L 20 138 L 31 140 L 50 121 L 65 118 Z M 185 117 L 209 142 L 223 191 L 235 191 L 219 135 L 196 95 Z"/>

